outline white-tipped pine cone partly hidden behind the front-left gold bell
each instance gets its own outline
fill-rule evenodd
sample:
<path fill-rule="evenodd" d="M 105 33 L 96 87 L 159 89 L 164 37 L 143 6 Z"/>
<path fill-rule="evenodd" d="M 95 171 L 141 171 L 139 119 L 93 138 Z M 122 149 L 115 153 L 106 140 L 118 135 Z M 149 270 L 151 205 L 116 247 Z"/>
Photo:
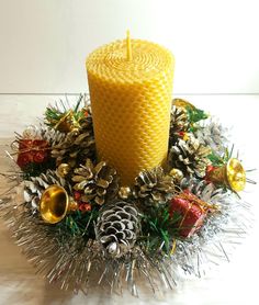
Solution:
<path fill-rule="evenodd" d="M 31 177 L 31 180 L 24 181 L 24 201 L 33 214 L 37 213 L 43 192 L 53 184 L 64 187 L 71 192 L 68 182 L 58 177 L 54 170 L 47 170 L 46 173 L 41 173 L 38 177 Z"/>

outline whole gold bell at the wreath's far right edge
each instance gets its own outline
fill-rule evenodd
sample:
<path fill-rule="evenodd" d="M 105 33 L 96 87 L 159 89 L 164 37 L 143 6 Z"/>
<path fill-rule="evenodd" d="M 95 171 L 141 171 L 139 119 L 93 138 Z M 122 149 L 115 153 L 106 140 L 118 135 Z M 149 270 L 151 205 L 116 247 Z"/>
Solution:
<path fill-rule="evenodd" d="M 235 192 L 243 191 L 246 185 L 246 171 L 239 160 L 230 158 L 228 162 L 207 173 L 209 180 L 225 184 Z"/>

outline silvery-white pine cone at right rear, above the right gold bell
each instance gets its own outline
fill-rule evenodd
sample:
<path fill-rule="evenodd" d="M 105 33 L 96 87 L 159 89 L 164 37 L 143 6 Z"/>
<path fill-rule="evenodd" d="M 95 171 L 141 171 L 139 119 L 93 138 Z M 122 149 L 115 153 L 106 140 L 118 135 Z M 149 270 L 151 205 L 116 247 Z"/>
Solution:
<path fill-rule="evenodd" d="M 226 129 L 222 124 L 211 121 L 207 125 L 200 126 L 194 135 L 202 145 L 207 145 L 212 150 L 223 154 L 228 142 L 225 133 Z"/>

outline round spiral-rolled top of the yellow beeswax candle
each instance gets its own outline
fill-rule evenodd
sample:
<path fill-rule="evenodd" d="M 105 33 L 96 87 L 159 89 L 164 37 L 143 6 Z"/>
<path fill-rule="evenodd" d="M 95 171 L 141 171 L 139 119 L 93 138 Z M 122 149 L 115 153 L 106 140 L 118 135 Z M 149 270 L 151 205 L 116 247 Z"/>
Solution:
<path fill-rule="evenodd" d="M 140 39 L 132 39 L 131 45 L 131 60 L 126 39 L 99 47 L 87 58 L 88 74 L 109 82 L 138 83 L 172 68 L 173 56 L 165 47 Z"/>

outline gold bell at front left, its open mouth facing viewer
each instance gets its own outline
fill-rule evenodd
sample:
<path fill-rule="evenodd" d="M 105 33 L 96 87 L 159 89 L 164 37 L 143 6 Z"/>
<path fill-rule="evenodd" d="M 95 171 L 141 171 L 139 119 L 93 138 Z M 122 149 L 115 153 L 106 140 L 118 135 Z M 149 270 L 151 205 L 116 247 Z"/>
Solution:
<path fill-rule="evenodd" d="M 68 212 L 77 211 L 78 204 L 59 185 L 48 187 L 40 201 L 40 214 L 48 224 L 59 223 Z"/>

